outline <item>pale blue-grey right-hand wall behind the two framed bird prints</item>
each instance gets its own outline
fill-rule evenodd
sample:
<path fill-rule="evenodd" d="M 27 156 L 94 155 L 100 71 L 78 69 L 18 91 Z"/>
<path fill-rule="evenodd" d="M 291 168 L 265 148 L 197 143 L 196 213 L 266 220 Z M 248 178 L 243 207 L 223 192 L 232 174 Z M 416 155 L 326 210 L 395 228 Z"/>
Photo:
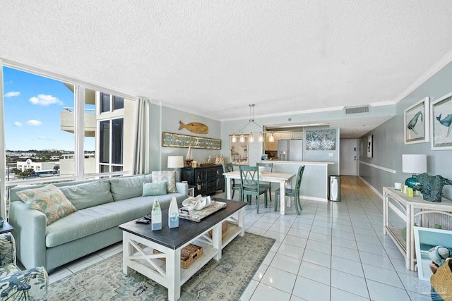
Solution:
<path fill-rule="evenodd" d="M 391 174 L 360 164 L 360 176 L 379 192 L 383 191 L 383 186 L 393 186 L 396 181 L 404 183 L 405 179 L 410 177 L 410 174 L 402 173 L 402 154 L 427 154 L 427 173 L 452 179 L 451 150 L 431 150 L 430 142 L 405 145 L 403 131 L 405 109 L 419 102 L 424 97 L 429 97 L 430 102 L 433 102 L 452 92 L 451 78 L 452 63 L 449 63 L 433 75 L 432 78 L 429 78 L 420 87 L 398 102 L 395 117 L 360 138 L 360 160 L 396 170 L 396 174 Z M 432 118 L 432 115 L 430 115 L 430 118 Z M 373 158 L 367 158 L 366 144 L 368 135 L 374 135 Z M 446 198 L 452 199 L 452 185 L 444 186 L 443 192 Z"/>

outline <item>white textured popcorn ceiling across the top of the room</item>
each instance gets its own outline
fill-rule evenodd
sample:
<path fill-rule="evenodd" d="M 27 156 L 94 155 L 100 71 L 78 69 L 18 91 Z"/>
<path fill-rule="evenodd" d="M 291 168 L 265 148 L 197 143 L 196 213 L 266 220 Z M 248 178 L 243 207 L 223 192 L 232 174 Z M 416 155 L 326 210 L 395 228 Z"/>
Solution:
<path fill-rule="evenodd" d="M 0 58 L 215 119 L 397 102 L 452 1 L 7 1 Z"/>

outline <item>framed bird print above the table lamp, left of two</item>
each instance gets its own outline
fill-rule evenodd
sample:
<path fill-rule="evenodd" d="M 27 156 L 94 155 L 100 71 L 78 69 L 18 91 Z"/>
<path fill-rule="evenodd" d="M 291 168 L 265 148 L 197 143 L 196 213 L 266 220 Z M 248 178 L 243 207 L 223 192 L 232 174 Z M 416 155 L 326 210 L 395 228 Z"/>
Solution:
<path fill-rule="evenodd" d="M 405 109 L 403 121 L 405 145 L 429 142 L 429 97 Z"/>

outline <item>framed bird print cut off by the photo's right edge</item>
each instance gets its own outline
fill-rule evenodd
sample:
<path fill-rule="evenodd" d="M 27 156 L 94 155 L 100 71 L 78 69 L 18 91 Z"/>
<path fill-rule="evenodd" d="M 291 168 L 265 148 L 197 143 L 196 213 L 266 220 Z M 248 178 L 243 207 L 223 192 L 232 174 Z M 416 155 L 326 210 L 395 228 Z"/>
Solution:
<path fill-rule="evenodd" d="M 452 149 L 452 93 L 432 102 L 432 149 Z"/>

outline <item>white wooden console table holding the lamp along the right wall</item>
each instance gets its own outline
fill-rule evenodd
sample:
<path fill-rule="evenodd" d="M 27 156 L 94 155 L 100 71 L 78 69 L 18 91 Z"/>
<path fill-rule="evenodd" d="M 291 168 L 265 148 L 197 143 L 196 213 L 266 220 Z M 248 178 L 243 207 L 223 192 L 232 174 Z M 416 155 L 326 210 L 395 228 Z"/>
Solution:
<path fill-rule="evenodd" d="M 397 214 L 406 225 L 406 239 L 403 228 L 391 226 L 389 210 Z M 424 226 L 425 214 L 446 214 L 452 217 L 452 201 L 443 198 L 441 202 L 429 202 L 422 196 L 408 197 L 400 190 L 383 187 L 383 234 L 389 235 L 405 257 L 405 267 L 411 271 L 416 269 L 415 236 L 413 227 L 415 218 L 419 216 L 418 226 Z"/>

